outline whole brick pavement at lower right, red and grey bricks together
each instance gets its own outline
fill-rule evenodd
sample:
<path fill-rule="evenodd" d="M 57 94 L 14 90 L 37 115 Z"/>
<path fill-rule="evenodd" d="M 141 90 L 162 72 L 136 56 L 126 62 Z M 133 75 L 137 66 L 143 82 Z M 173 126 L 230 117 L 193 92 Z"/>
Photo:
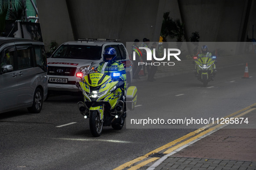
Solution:
<path fill-rule="evenodd" d="M 155 170 L 256 170 L 254 115 L 256 110 L 246 115 L 251 121 L 247 128 L 254 129 L 228 125 L 172 154 Z"/>

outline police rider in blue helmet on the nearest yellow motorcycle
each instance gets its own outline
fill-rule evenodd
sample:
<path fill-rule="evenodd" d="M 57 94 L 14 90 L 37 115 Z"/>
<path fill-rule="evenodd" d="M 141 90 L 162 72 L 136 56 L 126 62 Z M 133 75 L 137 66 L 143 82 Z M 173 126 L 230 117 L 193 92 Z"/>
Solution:
<path fill-rule="evenodd" d="M 97 68 L 97 72 L 102 74 L 107 74 L 108 76 L 113 75 L 113 73 L 120 73 L 117 79 L 124 82 L 121 89 L 123 91 L 123 96 L 125 96 L 126 91 L 126 71 L 124 69 L 123 63 L 116 61 L 117 51 L 113 47 L 107 47 L 103 53 L 103 60 Z"/>

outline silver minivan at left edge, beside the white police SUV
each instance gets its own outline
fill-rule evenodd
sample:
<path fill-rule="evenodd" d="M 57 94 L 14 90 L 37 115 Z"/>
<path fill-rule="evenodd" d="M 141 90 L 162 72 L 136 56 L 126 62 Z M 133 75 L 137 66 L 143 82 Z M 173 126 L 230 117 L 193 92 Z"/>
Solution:
<path fill-rule="evenodd" d="M 39 113 L 47 92 L 44 44 L 0 37 L 0 113 L 20 108 Z"/>

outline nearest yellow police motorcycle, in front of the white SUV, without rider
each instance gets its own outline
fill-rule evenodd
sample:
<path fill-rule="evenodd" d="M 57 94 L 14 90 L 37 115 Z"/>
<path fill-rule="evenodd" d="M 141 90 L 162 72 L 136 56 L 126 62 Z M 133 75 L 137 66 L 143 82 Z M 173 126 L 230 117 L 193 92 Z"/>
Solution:
<path fill-rule="evenodd" d="M 125 92 L 124 82 L 117 77 L 102 73 L 91 73 L 77 82 L 84 95 L 84 101 L 78 102 L 78 109 L 84 118 L 89 118 L 91 134 L 98 137 L 103 126 L 122 129 L 127 110 L 133 110 L 137 101 L 137 88 L 130 86 Z M 126 98 L 123 96 L 126 93 Z"/>

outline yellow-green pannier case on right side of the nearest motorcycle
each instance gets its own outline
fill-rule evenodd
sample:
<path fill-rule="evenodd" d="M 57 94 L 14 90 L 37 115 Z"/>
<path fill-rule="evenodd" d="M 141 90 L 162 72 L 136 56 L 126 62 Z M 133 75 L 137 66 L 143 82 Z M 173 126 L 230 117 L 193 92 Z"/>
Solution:
<path fill-rule="evenodd" d="M 137 88 L 136 86 L 130 86 L 126 91 L 126 107 L 129 110 L 133 110 L 137 102 Z"/>

